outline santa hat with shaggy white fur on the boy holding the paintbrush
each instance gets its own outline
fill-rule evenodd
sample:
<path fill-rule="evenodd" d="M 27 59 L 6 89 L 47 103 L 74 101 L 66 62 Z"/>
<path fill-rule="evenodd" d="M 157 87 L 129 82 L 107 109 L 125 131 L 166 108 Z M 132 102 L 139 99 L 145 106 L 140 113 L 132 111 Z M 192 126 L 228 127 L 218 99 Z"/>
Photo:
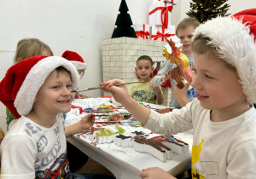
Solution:
<path fill-rule="evenodd" d="M 218 57 L 236 67 L 243 93 L 252 104 L 256 102 L 256 9 L 238 14 L 208 20 L 195 29 L 194 39 L 210 38 L 208 44 Z"/>

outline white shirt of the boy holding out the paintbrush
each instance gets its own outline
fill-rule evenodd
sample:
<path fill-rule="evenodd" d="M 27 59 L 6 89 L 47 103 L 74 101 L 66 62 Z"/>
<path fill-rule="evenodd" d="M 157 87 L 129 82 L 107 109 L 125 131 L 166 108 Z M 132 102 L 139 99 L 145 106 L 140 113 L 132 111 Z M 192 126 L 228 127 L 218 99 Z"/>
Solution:
<path fill-rule="evenodd" d="M 256 109 L 224 122 L 212 122 L 210 110 L 195 99 L 182 109 L 160 114 L 150 111 L 144 126 L 154 133 L 177 134 L 194 129 L 194 178 L 256 178 Z"/>

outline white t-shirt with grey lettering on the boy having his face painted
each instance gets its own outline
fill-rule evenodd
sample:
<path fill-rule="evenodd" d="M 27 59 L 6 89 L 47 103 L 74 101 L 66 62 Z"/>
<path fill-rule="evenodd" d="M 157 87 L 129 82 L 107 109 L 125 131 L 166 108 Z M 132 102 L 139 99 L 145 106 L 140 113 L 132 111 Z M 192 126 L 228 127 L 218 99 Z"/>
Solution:
<path fill-rule="evenodd" d="M 22 116 L 1 143 L 1 178 L 72 178 L 62 114 L 45 128 Z"/>

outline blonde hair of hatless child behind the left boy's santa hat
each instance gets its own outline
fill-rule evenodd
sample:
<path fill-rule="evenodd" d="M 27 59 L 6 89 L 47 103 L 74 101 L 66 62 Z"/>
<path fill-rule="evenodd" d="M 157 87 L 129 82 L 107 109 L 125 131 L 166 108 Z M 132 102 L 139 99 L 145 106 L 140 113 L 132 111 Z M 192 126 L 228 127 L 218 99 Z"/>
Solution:
<path fill-rule="evenodd" d="M 25 60 L 26 58 L 42 55 L 44 50 L 48 51 L 53 56 L 52 50 L 46 43 L 43 43 L 38 38 L 24 38 L 17 44 L 17 49 L 14 58 L 14 64 Z"/>

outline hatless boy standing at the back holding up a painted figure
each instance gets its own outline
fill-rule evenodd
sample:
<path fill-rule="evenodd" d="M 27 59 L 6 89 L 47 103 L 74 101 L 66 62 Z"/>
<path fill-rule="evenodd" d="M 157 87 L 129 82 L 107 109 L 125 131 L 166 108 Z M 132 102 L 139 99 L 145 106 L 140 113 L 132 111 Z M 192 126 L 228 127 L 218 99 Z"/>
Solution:
<path fill-rule="evenodd" d="M 193 32 L 195 28 L 200 25 L 200 22 L 194 17 L 188 17 L 183 19 L 176 28 L 177 38 L 180 38 L 180 43 L 183 43 L 182 53 L 189 58 L 190 66 L 193 64 L 193 54 L 191 50 L 191 43 L 193 42 Z M 166 80 L 170 79 L 172 84 L 172 96 L 170 101 L 170 107 L 184 107 L 189 101 L 195 99 L 195 90 L 189 90 L 189 84 L 185 84 L 183 89 L 179 89 L 177 83 L 171 78 L 171 70 L 175 67 L 175 64 L 170 64 L 170 61 L 165 61 L 160 67 L 160 70 L 152 79 L 154 86 L 160 86 L 166 84 Z M 189 90 L 189 91 L 188 91 Z"/>

